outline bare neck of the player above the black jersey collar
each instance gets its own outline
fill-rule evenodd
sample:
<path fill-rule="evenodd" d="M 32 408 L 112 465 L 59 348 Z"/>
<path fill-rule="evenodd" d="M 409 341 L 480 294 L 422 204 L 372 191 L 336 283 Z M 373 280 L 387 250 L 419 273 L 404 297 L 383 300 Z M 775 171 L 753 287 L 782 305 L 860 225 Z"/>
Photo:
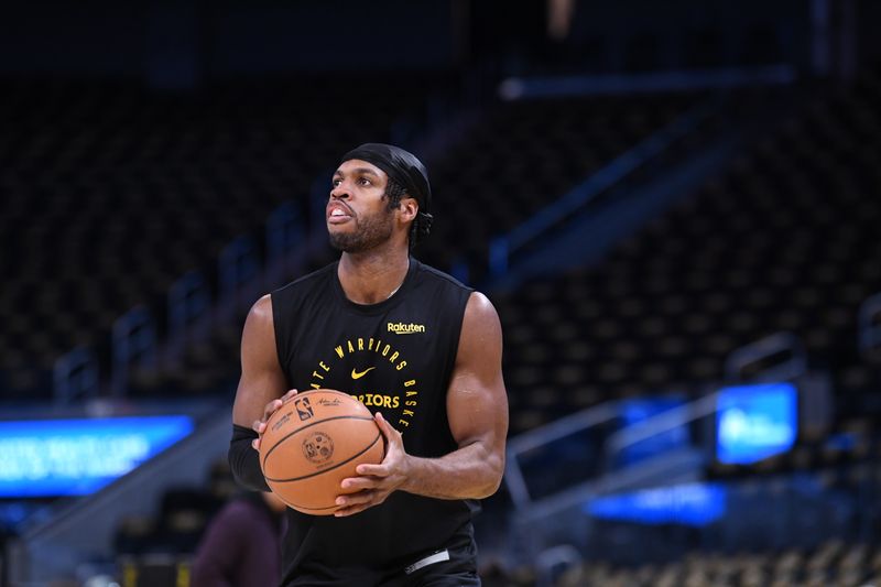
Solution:
<path fill-rule="evenodd" d="M 337 275 L 346 297 L 356 304 L 378 304 L 401 287 L 407 269 L 409 250 L 395 248 L 382 252 L 342 253 Z"/>

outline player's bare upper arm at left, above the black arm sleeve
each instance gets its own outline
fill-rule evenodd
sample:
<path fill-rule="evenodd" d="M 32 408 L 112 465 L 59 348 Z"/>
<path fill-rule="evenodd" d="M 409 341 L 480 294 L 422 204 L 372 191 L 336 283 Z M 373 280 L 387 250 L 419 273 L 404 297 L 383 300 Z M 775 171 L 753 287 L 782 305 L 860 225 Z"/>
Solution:
<path fill-rule="evenodd" d="M 286 391 L 275 350 L 275 327 L 269 295 L 251 307 L 241 336 L 241 378 L 232 406 L 232 422 L 251 427 L 265 405 Z"/>

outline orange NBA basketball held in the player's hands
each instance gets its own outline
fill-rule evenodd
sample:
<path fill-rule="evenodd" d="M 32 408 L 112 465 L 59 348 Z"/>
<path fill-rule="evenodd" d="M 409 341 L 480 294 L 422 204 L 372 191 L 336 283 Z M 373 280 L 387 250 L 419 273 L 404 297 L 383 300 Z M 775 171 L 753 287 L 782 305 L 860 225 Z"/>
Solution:
<path fill-rule="evenodd" d="M 291 508 L 313 515 L 339 509 L 337 496 L 361 463 L 378 464 L 385 453 L 370 411 L 339 391 L 297 393 L 267 422 L 260 466 L 272 492 Z"/>

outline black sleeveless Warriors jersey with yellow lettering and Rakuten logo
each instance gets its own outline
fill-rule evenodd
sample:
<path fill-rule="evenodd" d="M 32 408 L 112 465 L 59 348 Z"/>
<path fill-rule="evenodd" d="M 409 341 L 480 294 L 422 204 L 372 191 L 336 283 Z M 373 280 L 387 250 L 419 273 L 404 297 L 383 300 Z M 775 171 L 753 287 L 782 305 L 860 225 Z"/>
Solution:
<path fill-rule="evenodd" d="M 415 259 L 384 302 L 349 301 L 333 263 L 272 292 L 279 362 L 290 388 L 358 398 L 403 434 L 407 454 L 457 448 L 446 392 L 471 290 Z M 472 546 L 477 502 L 393 492 L 347 517 L 287 510 L 283 585 L 381 585 L 447 547 Z"/>

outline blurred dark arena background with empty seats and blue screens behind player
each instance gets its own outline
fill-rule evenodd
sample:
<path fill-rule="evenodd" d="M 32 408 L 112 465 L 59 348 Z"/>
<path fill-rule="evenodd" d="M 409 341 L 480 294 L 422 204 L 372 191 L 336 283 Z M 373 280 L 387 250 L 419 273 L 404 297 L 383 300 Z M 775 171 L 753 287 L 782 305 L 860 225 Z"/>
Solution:
<path fill-rule="evenodd" d="M 0 585 L 185 587 L 368 141 L 504 329 L 488 586 L 881 585 L 881 3 L 0 8 Z"/>

